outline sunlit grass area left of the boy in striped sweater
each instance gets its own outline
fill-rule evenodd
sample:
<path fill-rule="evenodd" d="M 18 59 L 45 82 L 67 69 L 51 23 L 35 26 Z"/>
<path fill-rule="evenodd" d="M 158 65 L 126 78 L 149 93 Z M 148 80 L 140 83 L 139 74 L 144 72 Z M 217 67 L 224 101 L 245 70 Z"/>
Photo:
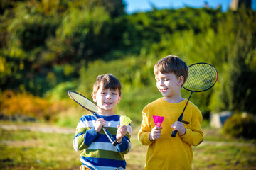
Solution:
<path fill-rule="evenodd" d="M 1 130 L 0 169 L 79 169 L 73 135 Z"/>

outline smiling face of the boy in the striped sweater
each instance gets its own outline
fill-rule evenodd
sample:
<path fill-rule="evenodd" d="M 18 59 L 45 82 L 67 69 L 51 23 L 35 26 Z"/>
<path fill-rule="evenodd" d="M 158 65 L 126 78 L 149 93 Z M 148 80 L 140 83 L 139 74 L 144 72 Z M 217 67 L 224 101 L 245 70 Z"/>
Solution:
<path fill-rule="evenodd" d="M 93 101 L 97 102 L 98 113 L 107 115 L 114 114 L 114 107 L 121 100 L 121 96 L 119 96 L 119 91 L 114 91 L 113 89 L 100 89 L 96 94 L 92 93 Z"/>

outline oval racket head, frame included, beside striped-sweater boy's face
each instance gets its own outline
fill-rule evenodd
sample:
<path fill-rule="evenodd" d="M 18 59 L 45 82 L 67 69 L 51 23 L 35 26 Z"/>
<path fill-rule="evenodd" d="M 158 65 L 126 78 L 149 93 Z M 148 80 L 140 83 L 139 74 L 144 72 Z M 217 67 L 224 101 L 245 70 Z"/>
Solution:
<path fill-rule="evenodd" d="M 97 113 L 97 106 L 95 103 L 90 101 L 89 98 L 79 94 L 76 91 L 68 91 L 68 96 L 70 96 L 70 98 L 72 98 L 75 103 L 78 103 L 80 106 L 82 106 L 82 108 L 85 108 L 93 113 Z"/>

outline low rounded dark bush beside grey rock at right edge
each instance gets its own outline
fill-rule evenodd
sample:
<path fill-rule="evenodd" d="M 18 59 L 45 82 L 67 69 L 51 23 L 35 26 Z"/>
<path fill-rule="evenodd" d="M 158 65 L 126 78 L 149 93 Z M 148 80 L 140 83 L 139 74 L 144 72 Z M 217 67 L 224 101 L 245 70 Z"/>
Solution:
<path fill-rule="evenodd" d="M 235 114 L 226 120 L 223 132 L 232 137 L 256 138 L 256 121 L 253 115 Z"/>

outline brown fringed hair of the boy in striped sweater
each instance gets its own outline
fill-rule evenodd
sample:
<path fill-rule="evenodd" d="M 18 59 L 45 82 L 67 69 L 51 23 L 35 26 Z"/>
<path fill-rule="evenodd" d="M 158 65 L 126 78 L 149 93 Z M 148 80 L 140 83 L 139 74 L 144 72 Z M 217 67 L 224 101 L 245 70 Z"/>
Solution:
<path fill-rule="evenodd" d="M 121 83 L 112 74 L 99 75 L 93 85 L 93 93 L 96 94 L 100 87 L 102 87 L 102 89 L 118 90 L 119 96 L 121 96 Z"/>

